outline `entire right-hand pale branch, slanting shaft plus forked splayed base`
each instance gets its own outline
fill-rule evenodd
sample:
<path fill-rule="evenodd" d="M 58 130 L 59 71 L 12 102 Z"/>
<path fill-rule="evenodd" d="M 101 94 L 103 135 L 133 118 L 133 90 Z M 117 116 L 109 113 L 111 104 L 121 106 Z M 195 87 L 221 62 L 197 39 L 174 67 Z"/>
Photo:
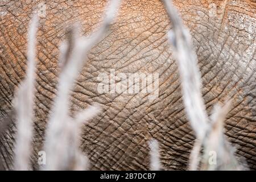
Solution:
<path fill-rule="evenodd" d="M 179 66 L 183 102 L 197 138 L 191 152 L 189 169 L 196 170 L 200 161 L 202 162 L 201 169 L 206 170 L 242 169 L 223 131 L 223 122 L 229 112 L 231 101 L 228 101 L 222 108 L 216 107 L 212 119 L 209 119 L 201 94 L 201 74 L 197 66 L 196 53 L 193 51 L 191 35 L 183 25 L 172 2 L 170 0 L 163 0 L 163 2 L 173 26 L 168 39 Z M 201 160 L 202 146 L 204 155 Z M 214 161 L 210 162 L 211 159 Z"/>

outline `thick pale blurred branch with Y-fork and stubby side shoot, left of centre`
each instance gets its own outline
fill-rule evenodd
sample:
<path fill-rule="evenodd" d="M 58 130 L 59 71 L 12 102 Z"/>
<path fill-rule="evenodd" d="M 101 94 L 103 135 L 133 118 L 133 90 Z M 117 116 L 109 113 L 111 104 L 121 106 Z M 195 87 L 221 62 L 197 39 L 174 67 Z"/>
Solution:
<path fill-rule="evenodd" d="M 47 163 L 44 169 L 86 169 L 86 158 L 81 154 L 81 124 L 93 118 L 99 112 L 98 106 L 81 111 L 75 119 L 69 117 L 69 94 L 85 63 L 89 50 L 102 38 L 113 21 L 118 1 L 112 1 L 106 11 L 106 18 L 100 29 L 89 37 L 79 36 L 79 26 L 69 31 L 69 39 L 61 46 L 60 63 L 62 71 L 59 78 L 58 92 L 46 130 L 44 150 Z"/>

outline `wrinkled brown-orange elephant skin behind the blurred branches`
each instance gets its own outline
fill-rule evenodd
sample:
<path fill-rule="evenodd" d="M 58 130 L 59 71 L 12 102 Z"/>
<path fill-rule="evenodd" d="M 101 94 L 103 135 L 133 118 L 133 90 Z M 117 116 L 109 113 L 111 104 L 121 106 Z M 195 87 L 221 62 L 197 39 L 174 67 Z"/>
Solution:
<path fill-rule="evenodd" d="M 0 2 L 0 114 L 11 100 L 26 70 L 27 28 L 39 1 Z M 256 62 L 254 0 L 174 1 L 191 31 L 203 77 L 208 114 L 217 102 L 233 98 L 225 134 L 238 156 L 256 169 Z M 49 109 L 55 98 L 58 46 L 65 27 L 76 20 L 89 35 L 101 22 L 106 1 L 47 1 L 40 18 L 36 77 L 35 137 L 32 156 L 36 169 Z M 147 140 L 159 140 L 164 169 L 187 169 L 195 136 L 181 97 L 177 65 L 167 41 L 171 28 L 162 2 L 123 1 L 105 38 L 89 54 L 72 92 L 72 110 L 98 102 L 104 111 L 84 127 L 82 149 L 92 169 L 148 169 Z M 146 94 L 99 94 L 101 72 L 159 73 L 159 97 Z M 2 136 L 0 158 L 13 168 L 15 127 Z"/>

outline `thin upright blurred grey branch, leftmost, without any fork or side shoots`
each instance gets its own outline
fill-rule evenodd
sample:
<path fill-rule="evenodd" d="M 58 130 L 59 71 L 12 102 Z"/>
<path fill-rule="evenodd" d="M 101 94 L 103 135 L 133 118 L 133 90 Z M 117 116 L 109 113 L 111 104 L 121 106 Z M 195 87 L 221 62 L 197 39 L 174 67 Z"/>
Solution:
<path fill-rule="evenodd" d="M 17 134 L 14 147 L 14 169 L 30 169 L 31 142 L 33 135 L 33 106 L 34 106 L 34 80 L 36 57 L 36 31 L 38 16 L 32 18 L 28 31 L 27 73 L 25 80 L 20 84 L 14 101 L 17 115 Z"/>

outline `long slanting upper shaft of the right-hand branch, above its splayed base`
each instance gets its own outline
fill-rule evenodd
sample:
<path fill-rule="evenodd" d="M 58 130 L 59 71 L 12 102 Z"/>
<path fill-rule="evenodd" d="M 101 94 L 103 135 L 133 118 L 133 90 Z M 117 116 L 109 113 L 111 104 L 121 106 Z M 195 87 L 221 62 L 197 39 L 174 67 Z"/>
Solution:
<path fill-rule="evenodd" d="M 179 65 L 183 101 L 188 113 L 189 121 L 197 138 L 202 139 L 208 128 L 208 116 L 201 95 L 201 74 L 197 67 L 197 56 L 193 51 L 191 35 L 184 27 L 176 9 L 168 0 L 163 1 L 173 28 L 169 32 L 175 59 Z"/>

